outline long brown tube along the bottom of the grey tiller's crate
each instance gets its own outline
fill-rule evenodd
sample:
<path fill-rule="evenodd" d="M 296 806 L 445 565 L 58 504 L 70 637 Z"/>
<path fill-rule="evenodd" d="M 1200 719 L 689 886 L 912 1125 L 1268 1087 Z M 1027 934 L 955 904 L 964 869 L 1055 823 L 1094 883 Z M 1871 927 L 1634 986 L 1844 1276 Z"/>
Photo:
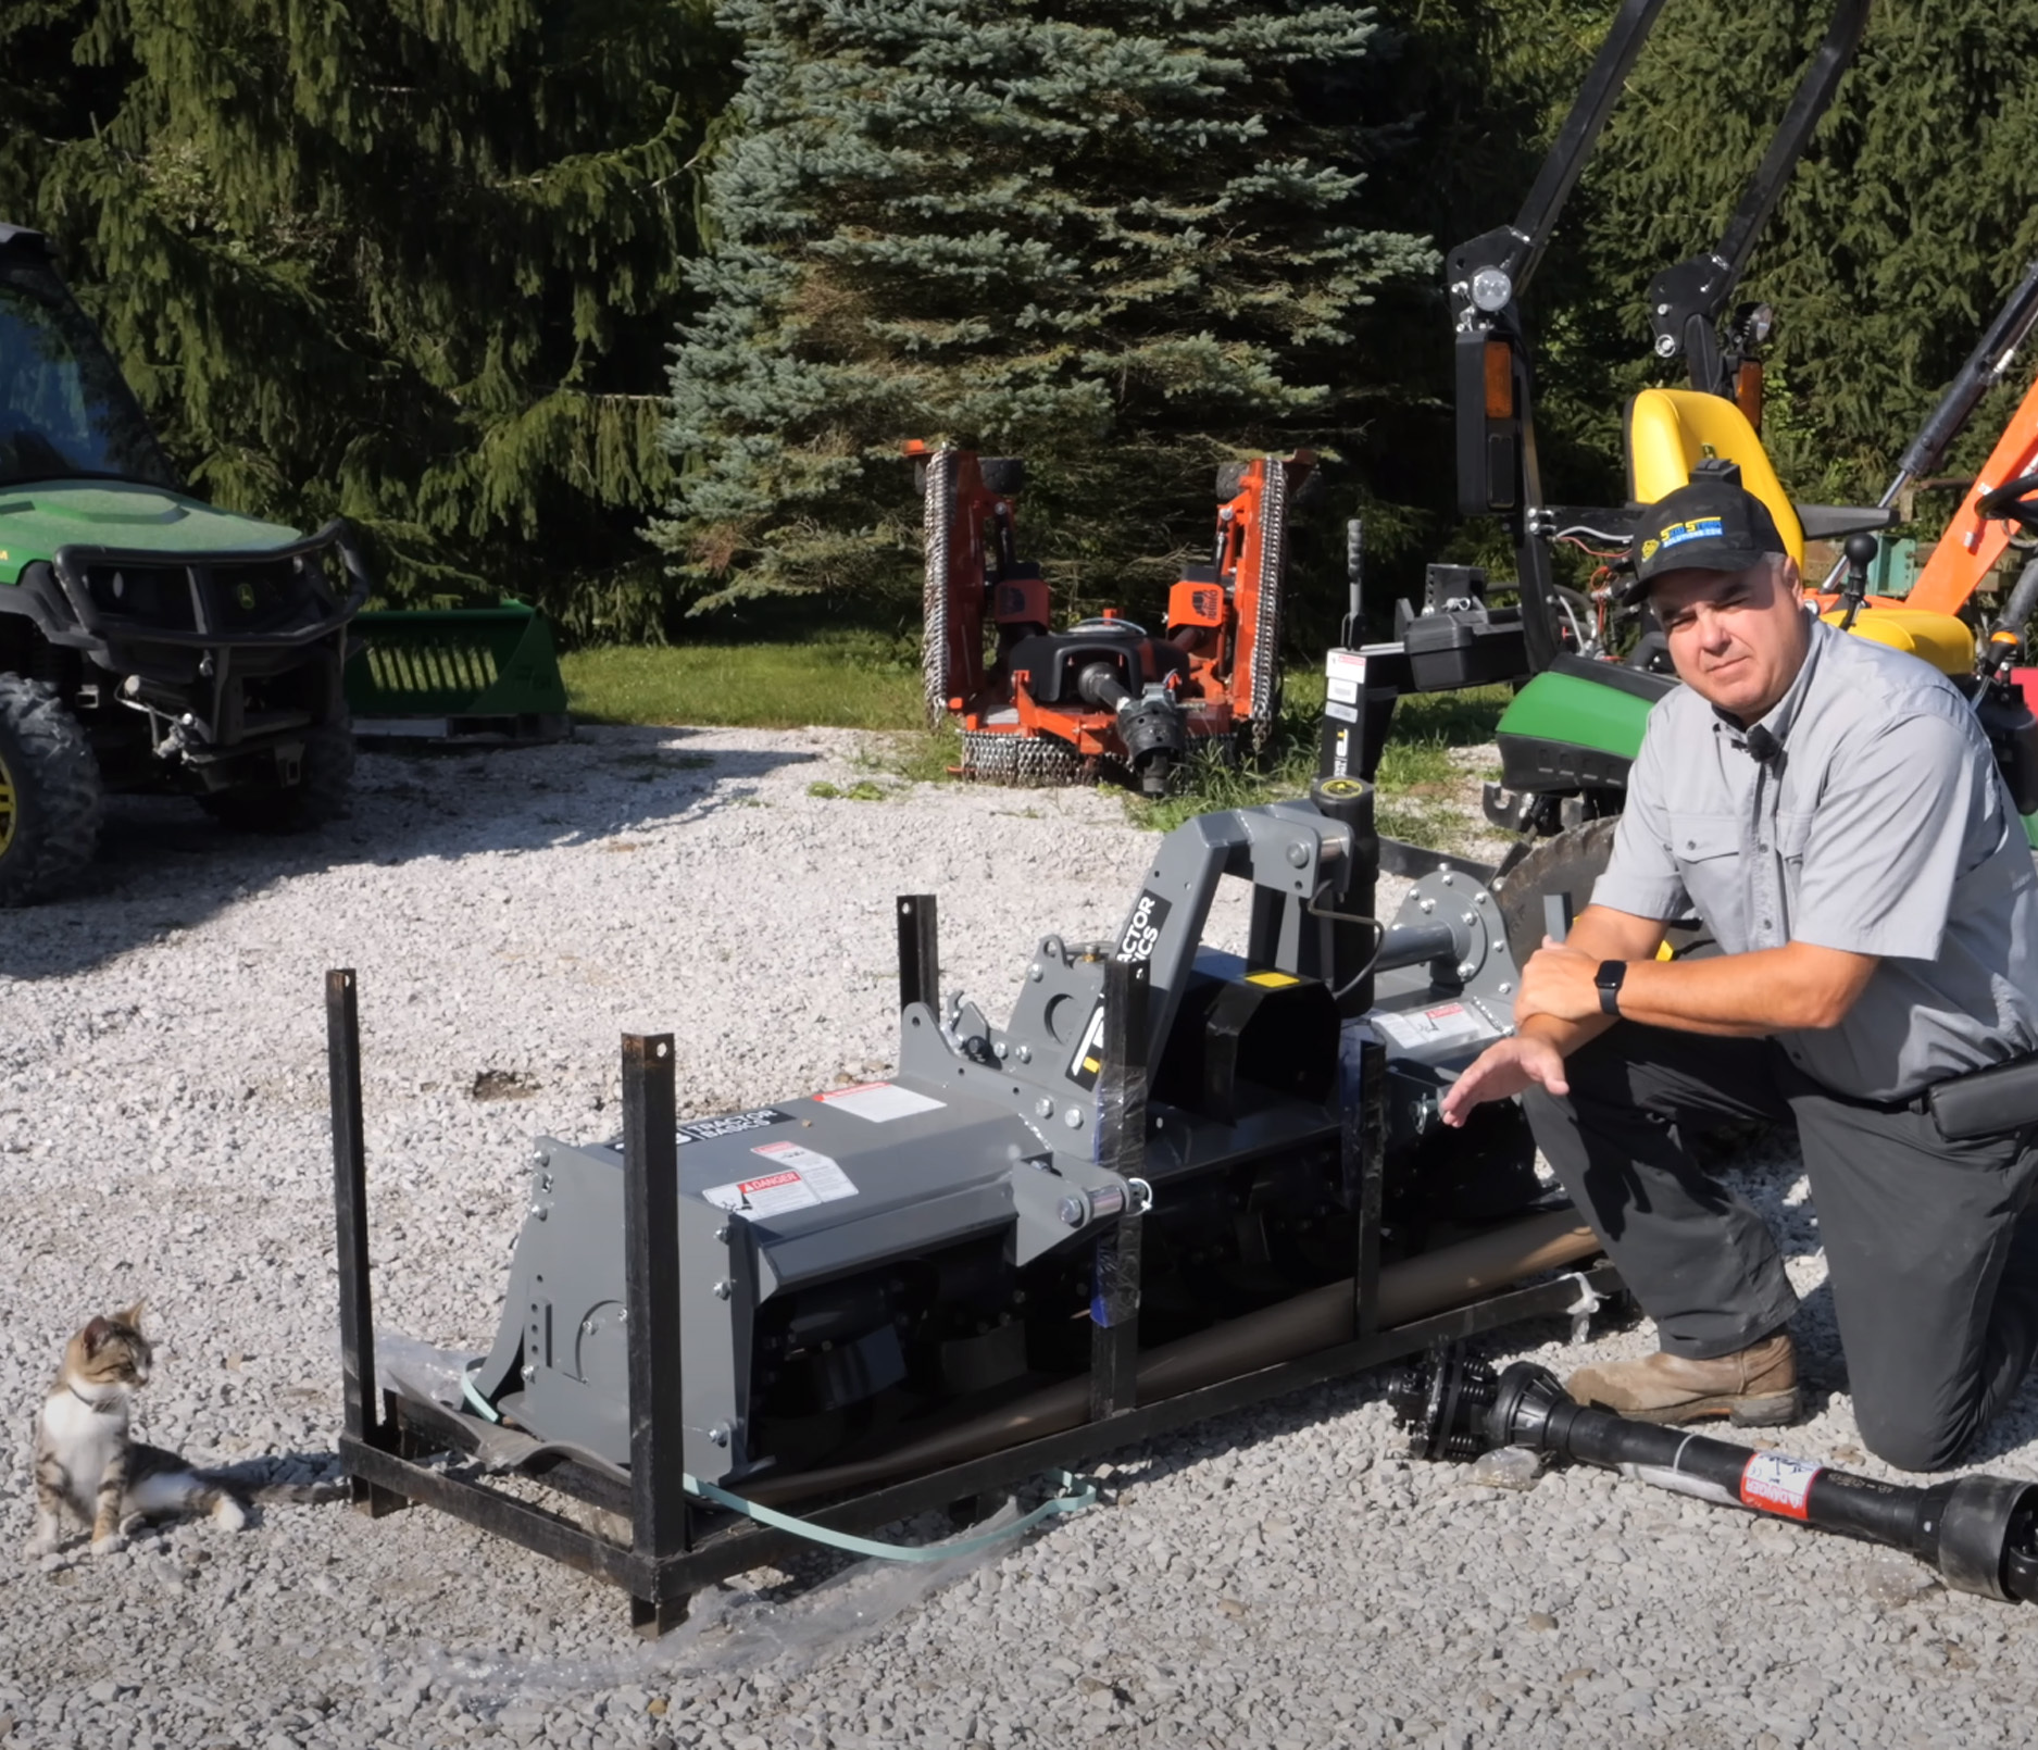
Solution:
<path fill-rule="evenodd" d="M 1439 1247 L 1433 1253 L 1404 1259 L 1380 1271 L 1380 1324 L 1408 1324 L 1478 1300 L 1535 1275 L 1592 1257 L 1598 1237 L 1575 1210 L 1551 1210 L 1508 1222 L 1478 1239 Z M 1282 1361 L 1294 1361 L 1319 1349 L 1351 1341 L 1351 1277 L 1315 1288 L 1284 1300 L 1280 1306 L 1229 1318 L 1180 1343 L 1168 1343 L 1139 1359 L 1137 1402 L 1158 1404 L 1180 1398 L 1221 1379 L 1257 1373 Z M 1076 1428 L 1090 1416 L 1088 1377 L 1050 1385 L 988 1416 L 978 1416 L 929 1434 L 874 1459 L 850 1465 L 829 1465 L 825 1471 L 803 1471 L 795 1477 L 770 1477 L 740 1485 L 752 1501 L 779 1506 L 809 1495 L 866 1489 L 915 1471 L 937 1471 L 1001 1453 L 1027 1440 Z"/>

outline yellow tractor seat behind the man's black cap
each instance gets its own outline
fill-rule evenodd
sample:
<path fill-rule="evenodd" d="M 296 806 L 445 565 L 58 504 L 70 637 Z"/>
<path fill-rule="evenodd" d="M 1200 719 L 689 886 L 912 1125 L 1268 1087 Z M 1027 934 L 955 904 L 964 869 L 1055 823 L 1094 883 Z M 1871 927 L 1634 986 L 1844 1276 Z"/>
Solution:
<path fill-rule="evenodd" d="M 1702 395 L 1696 389 L 1643 389 L 1628 403 L 1628 495 L 1637 503 L 1651 505 L 1677 491 L 1692 479 L 1692 469 L 1712 458 L 1738 462 L 1740 485 L 1769 507 L 1777 534 L 1783 536 L 1783 550 L 1804 568 L 1804 517 L 1783 491 L 1763 440 L 1740 407 L 1724 395 Z M 1869 511 L 1812 507 L 1806 515 L 1822 524 L 1822 536 L 1873 526 Z M 1834 625 L 1842 617 L 1842 609 L 1822 615 Z M 1969 674 L 1975 666 L 1975 634 L 1952 613 L 1869 605 L 1855 615 L 1853 634 L 1906 650 L 1940 674 Z"/>

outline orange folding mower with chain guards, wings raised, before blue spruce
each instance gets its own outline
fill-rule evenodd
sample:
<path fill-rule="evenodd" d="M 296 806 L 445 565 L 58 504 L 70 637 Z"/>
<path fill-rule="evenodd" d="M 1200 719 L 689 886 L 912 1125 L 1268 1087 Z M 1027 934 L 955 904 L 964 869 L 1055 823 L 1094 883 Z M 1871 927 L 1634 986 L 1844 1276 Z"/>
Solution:
<path fill-rule="evenodd" d="M 907 444 L 925 469 L 927 723 L 962 719 L 962 776 L 1137 780 L 1164 795 L 1198 752 L 1257 754 L 1280 715 L 1288 503 L 1298 450 L 1219 471 L 1209 564 L 1186 566 L 1160 638 L 1107 609 L 1056 632 L 1048 581 L 1017 556 L 1015 456 Z"/>

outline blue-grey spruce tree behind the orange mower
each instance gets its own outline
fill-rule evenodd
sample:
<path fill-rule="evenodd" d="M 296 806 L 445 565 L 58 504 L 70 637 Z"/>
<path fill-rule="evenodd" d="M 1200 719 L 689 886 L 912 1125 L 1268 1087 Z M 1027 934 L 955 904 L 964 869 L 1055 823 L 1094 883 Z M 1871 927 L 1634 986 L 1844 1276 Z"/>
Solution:
<path fill-rule="evenodd" d="M 901 440 L 1021 454 L 1025 546 L 1145 605 L 1211 471 L 1351 448 L 1382 285 L 1382 149 L 1331 102 L 1361 6 L 726 0 L 748 79 L 707 181 L 660 540 L 703 603 L 917 593 Z M 1367 350 L 1372 348 L 1372 352 Z"/>

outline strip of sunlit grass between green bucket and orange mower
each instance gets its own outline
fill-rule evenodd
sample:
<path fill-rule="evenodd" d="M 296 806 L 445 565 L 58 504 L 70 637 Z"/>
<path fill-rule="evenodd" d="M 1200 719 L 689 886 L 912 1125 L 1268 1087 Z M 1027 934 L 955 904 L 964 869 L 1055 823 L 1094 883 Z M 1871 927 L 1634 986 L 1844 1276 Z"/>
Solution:
<path fill-rule="evenodd" d="M 583 723 L 915 729 L 913 640 L 821 627 L 801 642 L 603 646 L 558 660 Z"/>

